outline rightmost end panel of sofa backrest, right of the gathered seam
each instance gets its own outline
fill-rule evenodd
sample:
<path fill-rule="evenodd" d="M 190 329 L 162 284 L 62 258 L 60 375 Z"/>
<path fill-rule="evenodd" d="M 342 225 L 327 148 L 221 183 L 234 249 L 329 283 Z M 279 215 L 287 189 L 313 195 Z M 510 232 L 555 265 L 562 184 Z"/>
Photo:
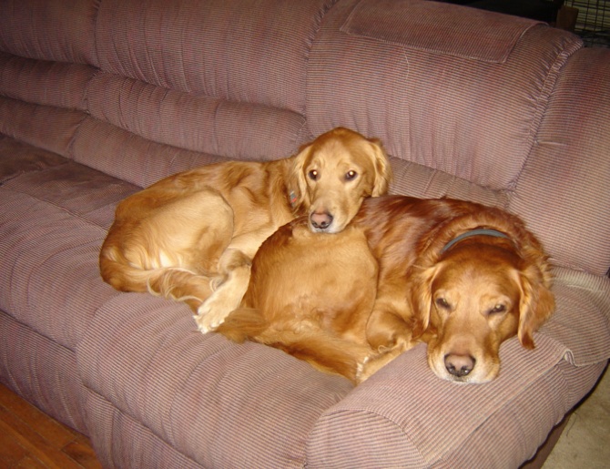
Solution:
<path fill-rule="evenodd" d="M 610 51 L 585 48 L 558 77 L 532 154 L 511 193 L 556 265 L 610 267 Z"/>

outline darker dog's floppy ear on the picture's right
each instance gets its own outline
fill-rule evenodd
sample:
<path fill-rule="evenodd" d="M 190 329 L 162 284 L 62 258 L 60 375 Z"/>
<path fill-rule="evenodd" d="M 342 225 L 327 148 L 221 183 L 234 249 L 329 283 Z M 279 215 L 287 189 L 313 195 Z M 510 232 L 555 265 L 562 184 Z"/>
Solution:
<path fill-rule="evenodd" d="M 519 304 L 519 342 L 526 349 L 534 349 L 534 332 L 554 311 L 554 295 L 549 281 L 536 266 L 530 265 L 519 274 L 521 301 Z"/>

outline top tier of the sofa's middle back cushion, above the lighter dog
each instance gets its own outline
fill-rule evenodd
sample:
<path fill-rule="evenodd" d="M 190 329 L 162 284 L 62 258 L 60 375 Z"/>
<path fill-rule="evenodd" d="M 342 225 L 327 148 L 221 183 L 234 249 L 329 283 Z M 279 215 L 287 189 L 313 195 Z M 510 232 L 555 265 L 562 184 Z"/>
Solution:
<path fill-rule="evenodd" d="M 158 87 L 302 113 L 310 43 L 330 0 L 105 0 L 100 67 Z"/>

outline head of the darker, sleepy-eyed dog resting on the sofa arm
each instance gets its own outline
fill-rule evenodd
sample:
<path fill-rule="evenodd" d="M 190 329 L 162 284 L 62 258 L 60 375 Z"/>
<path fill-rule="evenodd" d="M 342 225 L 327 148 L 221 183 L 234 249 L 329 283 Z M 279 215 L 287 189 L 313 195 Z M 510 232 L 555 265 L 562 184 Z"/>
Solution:
<path fill-rule="evenodd" d="M 432 243 L 433 252 L 413 269 L 412 311 L 425 331 L 430 367 L 442 379 L 493 380 L 501 343 L 517 335 L 533 349 L 534 331 L 554 311 L 540 244 L 518 219 L 506 216 L 501 225 L 503 231 L 493 231 L 502 235 L 464 231 L 446 250 L 450 241 L 440 236 L 444 246 Z"/>

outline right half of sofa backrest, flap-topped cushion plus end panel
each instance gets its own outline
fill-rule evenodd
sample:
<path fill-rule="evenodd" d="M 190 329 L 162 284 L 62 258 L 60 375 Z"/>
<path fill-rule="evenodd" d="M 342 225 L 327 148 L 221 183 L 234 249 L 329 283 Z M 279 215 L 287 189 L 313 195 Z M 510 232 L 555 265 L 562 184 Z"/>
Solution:
<path fill-rule="evenodd" d="M 344 0 L 311 50 L 308 125 L 312 134 L 345 126 L 381 138 L 399 158 L 393 191 L 510 209 L 555 264 L 604 274 L 608 57 L 524 18 Z"/>

